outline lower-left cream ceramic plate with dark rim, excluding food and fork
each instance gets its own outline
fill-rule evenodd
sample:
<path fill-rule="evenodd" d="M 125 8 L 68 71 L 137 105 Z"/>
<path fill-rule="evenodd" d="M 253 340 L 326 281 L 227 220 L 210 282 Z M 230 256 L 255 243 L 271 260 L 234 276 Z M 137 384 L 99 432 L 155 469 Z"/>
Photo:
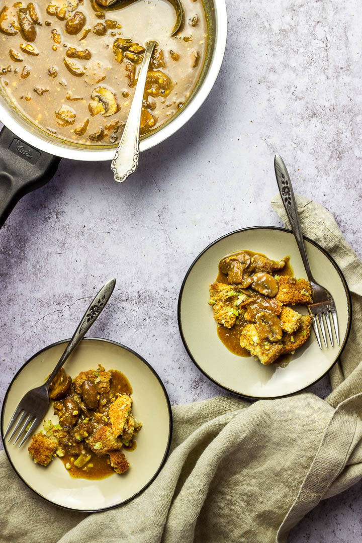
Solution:
<path fill-rule="evenodd" d="M 30 358 L 18 371 L 5 395 L 1 416 L 1 433 L 24 393 L 42 384 L 65 349 L 67 340 L 50 345 Z M 65 371 L 75 377 L 80 371 L 97 368 L 122 371 L 132 388 L 132 413 L 143 423 L 137 435 L 137 448 L 125 452 L 130 469 L 124 475 L 112 475 L 100 481 L 69 476 L 62 462 L 54 459 L 46 468 L 34 464 L 27 447 L 18 449 L 4 442 L 8 458 L 17 472 L 36 494 L 57 506 L 80 511 L 99 511 L 118 506 L 135 497 L 156 477 L 164 464 L 172 436 L 172 414 L 167 392 L 160 377 L 134 351 L 105 339 L 83 339 L 65 363 Z M 49 407 L 46 418 L 57 424 L 58 417 Z M 40 429 L 40 428 L 39 428 Z"/>

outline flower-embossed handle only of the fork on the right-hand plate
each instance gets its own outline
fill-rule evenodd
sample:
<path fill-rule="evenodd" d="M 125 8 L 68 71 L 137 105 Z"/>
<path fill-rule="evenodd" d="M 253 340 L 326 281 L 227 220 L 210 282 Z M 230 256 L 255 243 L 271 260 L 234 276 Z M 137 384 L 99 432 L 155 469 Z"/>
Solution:
<path fill-rule="evenodd" d="M 282 197 L 282 202 L 283 202 L 285 211 L 287 212 L 291 230 L 294 234 L 295 241 L 297 242 L 297 246 L 302 257 L 304 268 L 306 269 L 307 277 L 310 282 L 315 283 L 315 280 L 312 275 L 312 271 L 310 271 L 310 267 L 309 267 L 306 247 L 304 245 L 302 229 L 299 222 L 298 210 L 295 203 L 293 187 L 291 186 L 290 177 L 288 174 L 287 167 L 284 164 L 284 160 L 279 155 L 275 155 L 274 169 L 275 169 L 275 175 L 277 179 L 279 192 Z"/>

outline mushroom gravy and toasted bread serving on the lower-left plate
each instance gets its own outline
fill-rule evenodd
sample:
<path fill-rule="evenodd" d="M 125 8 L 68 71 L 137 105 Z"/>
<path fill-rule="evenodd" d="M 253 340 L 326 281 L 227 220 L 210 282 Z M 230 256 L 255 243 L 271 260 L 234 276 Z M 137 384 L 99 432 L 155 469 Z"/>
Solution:
<path fill-rule="evenodd" d="M 49 388 L 58 424 L 44 422 L 29 445 L 35 463 L 47 466 L 59 457 L 73 477 L 103 479 L 124 473 L 124 450 L 136 448 L 142 423 L 132 415 L 132 387 L 118 370 L 103 366 L 81 371 L 72 380 L 61 369 Z"/>

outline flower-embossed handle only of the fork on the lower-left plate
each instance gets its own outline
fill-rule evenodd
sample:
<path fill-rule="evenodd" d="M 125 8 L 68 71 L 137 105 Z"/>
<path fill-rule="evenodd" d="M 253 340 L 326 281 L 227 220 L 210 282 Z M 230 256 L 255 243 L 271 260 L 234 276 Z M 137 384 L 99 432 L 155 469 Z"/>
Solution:
<path fill-rule="evenodd" d="M 87 311 L 84 313 L 80 323 L 75 330 L 72 339 L 68 343 L 65 351 L 58 364 L 56 364 L 54 370 L 47 378 L 45 383 L 46 387 L 49 387 L 50 383 L 53 381 L 55 375 L 58 373 L 62 365 L 65 363 L 66 359 L 69 357 L 71 352 L 77 347 L 78 343 L 82 338 L 84 338 L 87 331 L 90 329 L 95 320 L 99 317 L 101 311 L 104 309 L 107 301 L 111 298 L 111 294 L 116 285 L 116 279 L 111 279 L 108 281 L 98 292 L 91 305 L 88 307 Z"/>

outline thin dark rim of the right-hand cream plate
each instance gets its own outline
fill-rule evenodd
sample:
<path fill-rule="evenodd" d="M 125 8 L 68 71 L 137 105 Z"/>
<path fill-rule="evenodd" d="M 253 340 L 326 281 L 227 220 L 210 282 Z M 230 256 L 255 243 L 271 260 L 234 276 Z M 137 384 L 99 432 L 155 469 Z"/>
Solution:
<path fill-rule="evenodd" d="M 182 301 L 182 293 L 183 293 L 183 288 L 185 287 L 185 284 L 186 284 L 186 281 L 187 281 L 187 278 L 190 274 L 190 271 L 192 270 L 192 268 L 195 266 L 196 262 L 199 260 L 199 258 L 206 252 L 208 251 L 209 248 L 211 248 L 213 245 L 215 245 L 216 243 L 218 243 L 219 241 L 221 241 L 221 239 L 224 239 L 224 238 L 227 238 L 228 236 L 232 236 L 233 234 L 236 234 L 236 233 L 239 233 L 239 232 L 245 232 L 247 230 L 279 230 L 281 232 L 287 232 L 289 233 L 291 236 L 293 236 L 293 232 L 291 230 L 288 230 L 287 228 L 281 228 L 280 226 L 249 226 L 248 228 L 240 228 L 239 230 L 233 230 L 232 232 L 229 232 L 228 234 L 225 234 L 224 236 L 221 236 L 219 237 L 218 239 L 215 239 L 215 241 L 213 241 L 212 243 L 210 243 L 209 245 L 207 245 L 207 247 L 205 247 L 205 249 L 203 251 L 200 252 L 200 254 L 198 256 L 196 256 L 195 260 L 193 261 L 193 263 L 191 264 L 191 266 L 189 267 L 189 269 L 187 270 L 186 272 L 186 275 L 185 275 L 185 278 L 183 279 L 182 281 L 182 285 L 181 285 L 181 289 L 180 289 L 180 294 L 179 294 L 179 302 L 177 304 L 177 321 L 179 323 L 179 331 L 180 331 L 180 336 L 181 336 L 181 339 L 182 339 L 182 343 L 183 343 L 183 346 L 185 347 L 186 351 L 187 351 L 187 354 L 188 356 L 190 357 L 190 359 L 192 360 L 192 362 L 195 364 L 196 368 L 198 368 L 202 374 L 204 374 L 210 381 L 212 381 L 213 383 L 217 384 L 218 387 L 221 387 L 223 388 L 224 390 L 227 390 L 228 392 L 231 392 L 232 394 L 235 394 L 237 396 L 240 396 L 240 397 L 243 397 L 245 399 L 248 399 L 248 400 L 277 400 L 278 398 L 284 398 L 284 397 L 287 397 L 287 396 L 294 396 L 295 394 L 299 394 L 300 392 L 302 392 L 303 390 L 306 390 L 307 388 L 309 387 L 312 387 L 313 384 L 317 383 L 318 381 L 320 381 L 325 375 L 327 375 L 328 371 L 331 371 L 331 369 L 333 368 L 333 366 L 335 365 L 335 363 L 338 361 L 338 358 L 341 356 L 342 352 L 344 351 L 344 348 L 346 346 L 346 343 L 347 343 L 347 340 L 348 340 L 348 336 L 350 335 L 350 331 L 351 331 L 351 324 L 352 324 L 352 301 L 351 301 L 351 294 L 350 294 L 350 289 L 348 289 L 348 285 L 347 285 L 347 281 L 345 279 L 345 276 L 343 275 L 340 267 L 338 266 L 338 264 L 335 262 L 334 258 L 332 258 L 331 255 L 328 254 L 328 252 L 323 249 L 323 247 L 321 247 L 319 245 L 319 243 L 316 243 L 315 241 L 313 241 L 313 239 L 310 239 L 309 237 L 307 236 L 303 236 L 304 239 L 306 239 L 309 243 L 312 243 L 312 245 L 314 245 L 317 249 L 319 249 L 327 258 L 328 260 L 333 264 L 334 268 L 336 269 L 336 271 L 338 272 L 339 276 L 340 276 L 340 279 L 342 281 L 342 285 L 345 289 L 345 293 L 346 293 L 346 298 L 347 298 L 347 305 L 348 305 L 348 322 L 347 322 L 347 331 L 346 331 L 346 335 L 345 335 L 345 338 L 344 338 L 344 341 L 341 345 L 341 348 L 339 350 L 339 353 L 338 353 L 338 356 L 336 356 L 335 358 L 335 361 L 333 362 L 333 364 L 327 369 L 327 371 L 325 371 L 320 377 L 318 377 L 315 381 L 313 381 L 312 383 L 308 384 L 306 387 L 303 387 L 299 390 L 295 390 L 295 392 L 291 392 L 289 394 L 283 394 L 281 396 L 250 396 L 248 394 L 242 394 L 241 392 L 238 392 L 237 390 L 233 390 L 231 388 L 228 388 L 228 387 L 225 387 L 223 384 L 219 383 L 218 381 L 216 381 L 213 377 L 211 377 L 210 375 L 208 375 L 208 373 L 203 370 L 200 365 L 196 362 L 195 358 L 193 357 L 190 349 L 188 348 L 188 345 L 187 345 L 187 342 L 186 342 L 186 339 L 185 339 L 185 336 L 183 335 L 183 331 L 182 331 L 182 324 L 181 324 L 181 301 Z"/>

